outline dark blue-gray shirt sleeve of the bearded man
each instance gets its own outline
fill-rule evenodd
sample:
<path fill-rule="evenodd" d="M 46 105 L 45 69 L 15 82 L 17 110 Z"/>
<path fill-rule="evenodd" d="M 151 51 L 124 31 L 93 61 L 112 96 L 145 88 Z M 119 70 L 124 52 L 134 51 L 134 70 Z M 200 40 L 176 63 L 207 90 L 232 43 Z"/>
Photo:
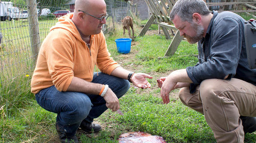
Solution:
<path fill-rule="evenodd" d="M 213 23 L 210 56 L 204 63 L 186 68 L 195 84 L 210 78 L 224 79 L 226 75 L 236 73 L 242 47 L 242 28 L 234 18 L 226 17 L 219 21 Z"/>

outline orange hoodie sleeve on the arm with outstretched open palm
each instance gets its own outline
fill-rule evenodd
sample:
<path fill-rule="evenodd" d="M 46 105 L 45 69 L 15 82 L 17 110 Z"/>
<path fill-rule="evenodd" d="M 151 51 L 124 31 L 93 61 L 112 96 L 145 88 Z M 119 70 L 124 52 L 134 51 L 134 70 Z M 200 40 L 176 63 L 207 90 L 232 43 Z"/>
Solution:
<path fill-rule="evenodd" d="M 111 72 L 120 67 L 118 63 L 116 63 L 112 57 L 110 57 L 110 53 L 107 49 L 107 43 L 104 34 L 101 32 L 100 40 L 99 40 L 99 50 L 97 56 L 97 65 L 99 69 L 106 73 L 111 74 Z"/>

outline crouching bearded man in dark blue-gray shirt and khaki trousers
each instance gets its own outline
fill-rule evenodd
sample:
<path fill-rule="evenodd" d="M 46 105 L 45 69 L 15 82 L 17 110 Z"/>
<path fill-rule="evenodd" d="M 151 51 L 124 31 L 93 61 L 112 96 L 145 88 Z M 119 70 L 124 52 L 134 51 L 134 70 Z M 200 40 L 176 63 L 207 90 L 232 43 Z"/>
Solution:
<path fill-rule="evenodd" d="M 204 114 L 218 143 L 243 143 L 256 130 L 256 69 L 247 61 L 244 19 L 210 12 L 203 0 L 178 0 L 170 14 L 189 43 L 198 42 L 198 63 L 161 77 L 165 104 L 181 88 L 180 100 Z"/>

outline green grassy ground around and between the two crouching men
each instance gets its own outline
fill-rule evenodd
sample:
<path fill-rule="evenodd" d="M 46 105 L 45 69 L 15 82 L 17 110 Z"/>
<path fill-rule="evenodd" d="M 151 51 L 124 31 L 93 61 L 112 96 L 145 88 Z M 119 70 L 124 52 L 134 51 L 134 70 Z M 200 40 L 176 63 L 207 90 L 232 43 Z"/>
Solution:
<path fill-rule="evenodd" d="M 149 29 L 145 36 L 132 41 L 129 54 L 119 54 L 114 42 L 123 37 L 121 25 L 106 35 L 113 59 L 125 69 L 152 75 L 153 79 L 149 80 L 152 87 L 138 89 L 131 84 L 120 99 L 120 110 L 124 116 L 107 110 L 94 120 L 102 125 L 102 131 L 97 134 L 77 131 L 76 135 L 82 143 L 118 143 L 119 135 L 129 131 L 162 136 L 168 143 L 216 142 L 204 116 L 184 106 L 177 97 L 177 89 L 170 93 L 171 103 L 166 105 L 162 104 L 156 84 L 157 78 L 167 76 L 171 71 L 195 65 L 197 58 L 191 55 L 197 54 L 196 45 L 183 40 L 174 56 L 158 59 L 164 56 L 171 40 L 157 35 L 157 25 L 153 24 Z M 135 35 L 140 30 L 135 26 Z M 127 32 L 125 37 L 128 37 Z M 13 79 L 4 90 L 0 90 L 0 95 L 12 97 L 6 100 L 0 96 L 0 143 L 59 143 L 55 131 L 56 114 L 44 110 L 34 100 L 34 95 L 30 93 L 31 73 L 27 75 L 30 76 L 24 74 L 20 79 Z M 255 132 L 245 135 L 245 143 L 254 143 L 255 140 Z"/>

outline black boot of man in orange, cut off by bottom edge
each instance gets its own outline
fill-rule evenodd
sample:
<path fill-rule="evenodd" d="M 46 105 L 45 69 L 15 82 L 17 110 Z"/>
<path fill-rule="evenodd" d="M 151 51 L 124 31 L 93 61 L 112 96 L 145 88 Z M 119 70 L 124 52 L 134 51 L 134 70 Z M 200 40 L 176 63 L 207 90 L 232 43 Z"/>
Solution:
<path fill-rule="evenodd" d="M 69 134 L 65 133 L 64 128 L 61 128 L 57 122 L 55 123 L 55 127 L 61 143 L 78 143 L 76 135 L 70 136 Z"/>

